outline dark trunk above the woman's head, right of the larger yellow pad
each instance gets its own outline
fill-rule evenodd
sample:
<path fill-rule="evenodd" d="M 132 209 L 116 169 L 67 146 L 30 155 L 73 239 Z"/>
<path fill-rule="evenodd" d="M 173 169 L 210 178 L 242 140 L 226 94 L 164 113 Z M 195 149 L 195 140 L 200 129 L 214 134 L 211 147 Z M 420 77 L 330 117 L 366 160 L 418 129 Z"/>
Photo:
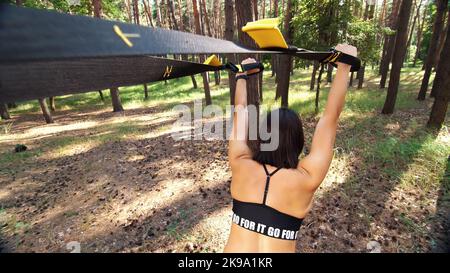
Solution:
<path fill-rule="evenodd" d="M 292 44 L 294 28 L 291 24 L 292 14 L 295 11 L 293 0 L 287 0 L 286 12 L 284 14 L 284 37 L 287 44 Z M 277 91 L 275 99 L 281 97 L 281 106 L 289 106 L 289 81 L 291 78 L 292 57 L 289 55 L 279 56 L 280 65 L 277 71 Z"/>

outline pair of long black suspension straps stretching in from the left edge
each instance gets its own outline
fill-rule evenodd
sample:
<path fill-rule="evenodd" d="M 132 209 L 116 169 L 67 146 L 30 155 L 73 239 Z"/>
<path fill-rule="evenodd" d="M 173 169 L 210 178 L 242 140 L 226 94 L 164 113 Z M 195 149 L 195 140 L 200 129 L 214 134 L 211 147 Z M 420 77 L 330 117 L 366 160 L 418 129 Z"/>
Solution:
<path fill-rule="evenodd" d="M 10 4 L 0 4 L 0 15 L 0 103 L 149 83 L 206 71 L 236 71 L 231 64 L 217 67 L 151 57 L 155 55 L 269 53 L 322 61 L 335 54 L 296 47 L 252 49 L 191 33 Z M 342 62 L 359 61 L 345 55 L 340 58 Z M 262 64 L 243 67 L 253 65 L 260 65 L 260 71 L 264 69 Z"/>

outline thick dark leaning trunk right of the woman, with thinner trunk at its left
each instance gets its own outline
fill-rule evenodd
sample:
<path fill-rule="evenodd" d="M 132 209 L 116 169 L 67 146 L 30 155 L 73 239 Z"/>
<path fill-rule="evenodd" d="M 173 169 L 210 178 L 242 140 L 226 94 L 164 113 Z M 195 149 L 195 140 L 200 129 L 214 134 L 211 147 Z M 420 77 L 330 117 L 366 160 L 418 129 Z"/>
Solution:
<path fill-rule="evenodd" d="M 406 55 L 406 43 L 408 42 L 408 22 L 411 15 L 411 6 L 412 0 L 403 0 L 400 6 L 397 35 L 395 37 L 394 58 L 392 60 L 392 69 L 389 78 L 386 101 L 384 102 L 382 110 L 383 114 L 392 114 L 394 112 L 400 81 L 400 72 Z"/>

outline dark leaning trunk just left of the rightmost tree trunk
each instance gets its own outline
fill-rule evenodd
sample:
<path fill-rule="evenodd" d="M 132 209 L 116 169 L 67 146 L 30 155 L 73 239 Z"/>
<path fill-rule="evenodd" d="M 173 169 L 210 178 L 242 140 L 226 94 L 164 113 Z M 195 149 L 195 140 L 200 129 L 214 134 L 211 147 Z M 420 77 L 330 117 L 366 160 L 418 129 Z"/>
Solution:
<path fill-rule="evenodd" d="M 433 35 L 431 36 L 430 46 L 428 48 L 427 59 L 425 61 L 425 73 L 422 79 L 422 85 L 420 86 L 418 100 L 425 100 L 428 90 L 428 84 L 430 82 L 431 70 L 435 61 L 435 54 L 438 50 L 439 36 L 441 35 L 444 25 L 444 13 L 447 10 L 448 0 L 436 0 L 437 10 L 436 18 L 433 26 Z"/>

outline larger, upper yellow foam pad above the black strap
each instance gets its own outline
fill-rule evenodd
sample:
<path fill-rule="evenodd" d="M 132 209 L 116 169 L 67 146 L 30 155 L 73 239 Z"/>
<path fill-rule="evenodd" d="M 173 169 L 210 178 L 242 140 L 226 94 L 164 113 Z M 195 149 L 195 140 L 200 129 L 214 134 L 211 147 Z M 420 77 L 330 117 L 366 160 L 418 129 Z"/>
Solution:
<path fill-rule="evenodd" d="M 288 48 L 278 28 L 278 18 L 262 19 L 247 23 L 242 31 L 247 33 L 260 48 Z"/>

